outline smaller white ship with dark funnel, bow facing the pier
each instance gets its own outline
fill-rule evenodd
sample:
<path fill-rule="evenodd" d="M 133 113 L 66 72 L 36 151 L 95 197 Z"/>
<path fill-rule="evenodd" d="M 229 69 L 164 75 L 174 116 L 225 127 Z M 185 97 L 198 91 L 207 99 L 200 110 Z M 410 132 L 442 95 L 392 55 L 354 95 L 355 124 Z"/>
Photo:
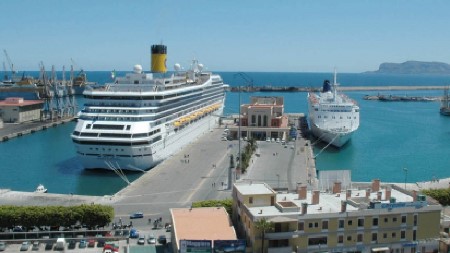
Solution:
<path fill-rule="evenodd" d="M 337 92 L 334 82 L 325 80 L 320 94 L 308 93 L 308 118 L 312 133 L 335 147 L 342 147 L 359 127 L 356 102 Z"/>

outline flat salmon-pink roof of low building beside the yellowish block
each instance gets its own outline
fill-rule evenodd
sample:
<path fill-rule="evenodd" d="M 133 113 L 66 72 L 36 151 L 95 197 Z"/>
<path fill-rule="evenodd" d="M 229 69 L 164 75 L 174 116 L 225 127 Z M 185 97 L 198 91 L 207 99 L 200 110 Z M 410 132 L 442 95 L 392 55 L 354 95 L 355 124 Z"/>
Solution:
<path fill-rule="evenodd" d="M 237 240 L 223 207 L 172 208 L 173 252 L 180 252 L 180 240 Z"/>

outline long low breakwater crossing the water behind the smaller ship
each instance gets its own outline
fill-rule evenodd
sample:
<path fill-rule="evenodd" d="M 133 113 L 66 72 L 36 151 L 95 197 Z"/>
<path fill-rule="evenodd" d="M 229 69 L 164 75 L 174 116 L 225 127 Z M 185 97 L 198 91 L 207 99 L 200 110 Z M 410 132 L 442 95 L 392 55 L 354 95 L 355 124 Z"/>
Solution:
<path fill-rule="evenodd" d="M 339 86 L 341 91 L 395 91 L 395 90 L 444 90 L 447 86 L 411 85 L 411 86 Z M 305 86 L 233 86 L 231 92 L 319 92 L 320 87 Z"/>

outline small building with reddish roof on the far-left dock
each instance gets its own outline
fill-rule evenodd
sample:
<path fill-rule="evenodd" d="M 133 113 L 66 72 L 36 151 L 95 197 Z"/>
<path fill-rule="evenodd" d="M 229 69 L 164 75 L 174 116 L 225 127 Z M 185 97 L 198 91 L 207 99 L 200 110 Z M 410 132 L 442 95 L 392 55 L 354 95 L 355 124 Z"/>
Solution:
<path fill-rule="evenodd" d="M 23 98 L 6 98 L 0 101 L 0 117 L 4 122 L 22 123 L 39 120 L 44 102 L 24 100 Z"/>

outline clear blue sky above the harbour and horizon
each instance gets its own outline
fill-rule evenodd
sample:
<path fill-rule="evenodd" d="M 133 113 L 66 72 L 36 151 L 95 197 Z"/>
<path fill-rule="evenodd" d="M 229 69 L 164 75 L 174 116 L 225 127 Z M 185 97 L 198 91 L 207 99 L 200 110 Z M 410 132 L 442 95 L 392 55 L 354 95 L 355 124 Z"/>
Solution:
<path fill-rule="evenodd" d="M 149 68 L 193 58 L 213 71 L 364 72 L 450 62 L 450 1 L 1 0 L 0 48 L 17 70 Z M 2 52 L 0 59 L 6 62 Z"/>

